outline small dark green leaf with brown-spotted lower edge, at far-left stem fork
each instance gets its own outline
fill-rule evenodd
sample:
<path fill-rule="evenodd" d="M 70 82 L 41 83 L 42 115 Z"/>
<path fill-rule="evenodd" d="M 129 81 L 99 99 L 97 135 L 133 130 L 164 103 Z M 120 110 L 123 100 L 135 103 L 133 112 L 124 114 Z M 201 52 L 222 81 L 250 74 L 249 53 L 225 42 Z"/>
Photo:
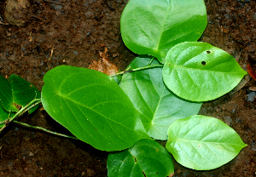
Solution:
<path fill-rule="evenodd" d="M 38 88 L 36 88 L 32 83 L 27 82 L 22 77 L 15 74 L 10 75 L 9 83 L 12 88 L 13 103 L 19 106 L 26 106 L 34 99 L 40 98 L 40 93 Z M 33 107 L 28 113 L 32 113 L 38 108 L 38 106 Z"/>

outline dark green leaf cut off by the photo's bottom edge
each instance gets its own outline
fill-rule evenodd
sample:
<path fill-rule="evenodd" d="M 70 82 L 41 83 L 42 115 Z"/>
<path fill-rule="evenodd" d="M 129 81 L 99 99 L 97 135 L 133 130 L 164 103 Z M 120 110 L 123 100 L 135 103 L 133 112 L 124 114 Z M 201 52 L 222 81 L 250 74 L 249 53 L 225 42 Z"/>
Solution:
<path fill-rule="evenodd" d="M 163 177 L 174 173 L 170 154 L 154 140 L 139 140 L 130 149 L 108 155 L 108 177 Z"/>

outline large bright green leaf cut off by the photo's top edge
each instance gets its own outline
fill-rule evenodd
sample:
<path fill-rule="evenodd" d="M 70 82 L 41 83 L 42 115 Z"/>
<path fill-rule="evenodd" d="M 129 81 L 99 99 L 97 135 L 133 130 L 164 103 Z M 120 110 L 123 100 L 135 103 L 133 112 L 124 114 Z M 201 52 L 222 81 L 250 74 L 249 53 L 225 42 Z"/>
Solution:
<path fill-rule="evenodd" d="M 207 26 L 207 11 L 203 0 L 130 0 L 120 25 L 127 48 L 165 63 L 167 52 L 177 43 L 201 37 Z"/>

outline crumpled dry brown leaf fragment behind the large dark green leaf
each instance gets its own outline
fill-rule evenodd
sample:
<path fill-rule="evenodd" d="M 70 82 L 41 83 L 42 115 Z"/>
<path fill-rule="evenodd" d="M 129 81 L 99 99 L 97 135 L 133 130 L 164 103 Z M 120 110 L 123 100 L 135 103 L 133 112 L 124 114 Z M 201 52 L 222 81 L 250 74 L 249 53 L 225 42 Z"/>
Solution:
<path fill-rule="evenodd" d="M 108 60 L 108 48 L 104 45 L 104 52 L 99 51 L 100 60 L 93 60 L 89 69 L 101 71 L 105 74 L 112 75 L 119 71 L 119 68 Z"/>

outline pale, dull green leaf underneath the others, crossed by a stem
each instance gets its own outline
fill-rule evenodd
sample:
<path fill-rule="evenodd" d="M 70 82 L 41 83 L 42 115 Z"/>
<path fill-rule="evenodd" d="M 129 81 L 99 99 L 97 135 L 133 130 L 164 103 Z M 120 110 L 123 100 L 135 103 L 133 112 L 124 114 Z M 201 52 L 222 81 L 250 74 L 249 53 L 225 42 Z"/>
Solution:
<path fill-rule="evenodd" d="M 152 57 L 140 55 L 128 68 L 147 66 L 150 60 Z M 151 65 L 160 63 L 154 60 Z M 141 113 L 148 135 L 157 140 L 167 140 L 167 129 L 171 123 L 195 115 L 201 108 L 201 103 L 180 99 L 166 88 L 162 80 L 162 67 L 125 73 L 120 87 Z"/>

